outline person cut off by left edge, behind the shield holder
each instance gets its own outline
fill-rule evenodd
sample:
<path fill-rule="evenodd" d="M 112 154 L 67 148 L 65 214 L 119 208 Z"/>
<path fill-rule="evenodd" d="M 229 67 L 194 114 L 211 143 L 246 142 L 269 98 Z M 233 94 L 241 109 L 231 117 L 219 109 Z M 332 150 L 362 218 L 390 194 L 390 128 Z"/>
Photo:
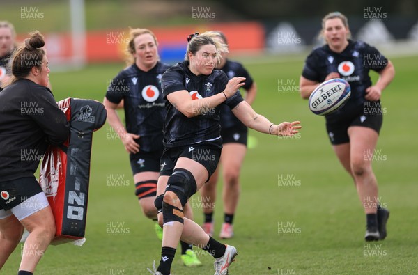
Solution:
<path fill-rule="evenodd" d="M 13 24 L 0 21 L 0 91 L 10 80 L 7 63 L 15 49 L 16 32 Z"/>

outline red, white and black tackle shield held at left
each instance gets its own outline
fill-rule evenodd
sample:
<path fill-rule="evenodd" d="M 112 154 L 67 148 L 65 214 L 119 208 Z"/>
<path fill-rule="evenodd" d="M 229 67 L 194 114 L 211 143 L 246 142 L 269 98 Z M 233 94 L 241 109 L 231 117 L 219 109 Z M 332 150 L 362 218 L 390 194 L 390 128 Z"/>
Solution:
<path fill-rule="evenodd" d="M 47 148 L 39 179 L 55 218 L 51 244 L 84 237 L 93 132 L 104 125 L 107 115 L 95 100 L 67 98 L 57 104 L 70 122 L 70 136 L 61 146 Z"/>

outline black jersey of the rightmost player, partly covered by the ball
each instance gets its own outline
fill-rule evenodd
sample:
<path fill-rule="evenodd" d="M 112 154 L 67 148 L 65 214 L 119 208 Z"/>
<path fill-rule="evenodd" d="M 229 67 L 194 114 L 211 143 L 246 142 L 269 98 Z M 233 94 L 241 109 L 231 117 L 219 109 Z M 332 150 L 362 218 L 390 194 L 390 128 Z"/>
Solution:
<path fill-rule="evenodd" d="M 387 66 L 387 58 L 378 49 L 363 41 L 348 40 L 348 46 L 341 53 L 332 52 L 328 45 L 314 49 L 307 57 L 302 76 L 312 81 L 323 82 L 331 72 L 338 72 L 351 86 L 351 95 L 343 108 L 330 115 L 335 120 L 341 114 L 362 109 L 366 88 L 371 86 L 369 71 L 380 72 Z"/>

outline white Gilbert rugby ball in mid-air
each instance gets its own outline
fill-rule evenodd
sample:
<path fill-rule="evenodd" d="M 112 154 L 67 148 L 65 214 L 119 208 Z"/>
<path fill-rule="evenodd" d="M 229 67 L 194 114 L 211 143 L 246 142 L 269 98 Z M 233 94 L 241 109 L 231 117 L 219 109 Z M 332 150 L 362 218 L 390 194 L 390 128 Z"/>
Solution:
<path fill-rule="evenodd" d="M 311 93 L 309 109 L 316 115 L 325 116 L 343 107 L 350 95 L 350 84 L 344 79 L 327 80 Z"/>

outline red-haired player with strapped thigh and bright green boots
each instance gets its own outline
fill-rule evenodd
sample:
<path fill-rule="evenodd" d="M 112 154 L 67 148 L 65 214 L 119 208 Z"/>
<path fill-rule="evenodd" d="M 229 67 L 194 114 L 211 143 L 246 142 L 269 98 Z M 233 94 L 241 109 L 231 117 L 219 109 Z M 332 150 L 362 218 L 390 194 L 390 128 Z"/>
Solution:
<path fill-rule="evenodd" d="M 162 155 L 162 124 L 167 113 L 162 98 L 161 77 L 170 65 L 161 63 L 157 52 L 158 42 L 148 29 L 131 29 L 127 45 L 127 68 L 112 79 L 103 104 L 107 122 L 121 138 L 129 153 L 134 175 L 135 195 L 145 217 L 155 221 L 157 237 L 162 239 L 162 229 L 157 223 L 155 194 Z M 123 102 L 126 127 L 116 113 Z M 187 217 L 192 210 L 186 207 Z M 181 242 L 182 260 L 186 266 L 201 265 L 191 244 Z"/>

